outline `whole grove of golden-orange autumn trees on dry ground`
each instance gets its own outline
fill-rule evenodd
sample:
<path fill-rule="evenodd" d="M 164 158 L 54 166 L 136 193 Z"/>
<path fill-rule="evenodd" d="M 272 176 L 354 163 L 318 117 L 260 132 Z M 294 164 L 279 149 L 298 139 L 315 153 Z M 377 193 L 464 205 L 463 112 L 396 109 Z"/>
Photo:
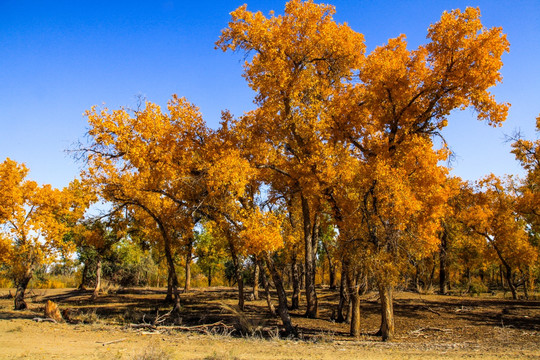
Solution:
<path fill-rule="evenodd" d="M 99 297 L 104 262 L 122 247 L 166 278 L 173 310 L 182 306 L 179 273 L 189 291 L 192 266 L 208 286 L 230 268 L 240 311 L 245 282 L 258 297 L 261 281 L 273 313 L 272 285 L 287 335 L 297 333 L 290 310 L 320 316 L 326 275 L 340 293 L 335 320 L 348 321 L 353 337 L 370 289 L 383 340 L 395 334 L 396 288 L 438 278 L 442 294 L 467 292 L 479 276 L 514 299 L 520 287 L 529 296 L 540 281 L 540 140 L 512 139 L 523 179 L 467 183 L 450 175 L 441 135 L 455 111 L 505 121 L 509 104 L 491 93 L 509 51 L 502 29 L 483 26 L 479 9 L 453 10 L 416 49 L 400 35 L 366 53 L 364 36 L 334 13 L 301 0 L 282 15 L 233 11 L 216 48 L 245 59 L 256 108 L 224 111 L 216 129 L 176 95 L 166 110 L 149 101 L 93 107 L 87 140 L 73 149 L 84 169 L 67 188 L 39 186 L 23 164 L 1 163 L 0 264 L 15 308 L 26 307 L 39 267 L 73 252 L 81 286 L 92 271 Z M 107 210 L 87 211 L 98 202 Z"/>

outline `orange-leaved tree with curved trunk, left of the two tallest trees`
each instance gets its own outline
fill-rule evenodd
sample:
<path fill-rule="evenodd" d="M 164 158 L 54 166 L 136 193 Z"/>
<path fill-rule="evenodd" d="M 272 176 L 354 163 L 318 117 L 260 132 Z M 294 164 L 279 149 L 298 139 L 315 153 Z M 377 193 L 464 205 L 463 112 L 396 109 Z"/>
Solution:
<path fill-rule="evenodd" d="M 177 96 L 168 113 L 146 102 L 133 112 L 94 107 L 87 118 L 90 143 L 79 149 L 88 161 L 86 178 L 117 208 L 137 209 L 154 221 L 178 309 L 175 250 L 191 241 L 194 209 L 208 195 L 200 178 L 209 130 L 198 109 Z"/>

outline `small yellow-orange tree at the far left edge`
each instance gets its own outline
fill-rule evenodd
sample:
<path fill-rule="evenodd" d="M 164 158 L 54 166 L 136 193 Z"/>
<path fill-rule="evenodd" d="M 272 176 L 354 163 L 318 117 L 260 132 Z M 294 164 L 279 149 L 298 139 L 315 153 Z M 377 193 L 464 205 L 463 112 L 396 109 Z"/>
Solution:
<path fill-rule="evenodd" d="M 36 269 L 74 250 L 65 235 L 90 202 L 77 180 L 58 190 L 27 180 L 27 173 L 23 164 L 9 158 L 0 164 L 0 239 L 7 247 L 4 257 L 17 288 L 15 310 L 27 307 L 25 291 Z"/>

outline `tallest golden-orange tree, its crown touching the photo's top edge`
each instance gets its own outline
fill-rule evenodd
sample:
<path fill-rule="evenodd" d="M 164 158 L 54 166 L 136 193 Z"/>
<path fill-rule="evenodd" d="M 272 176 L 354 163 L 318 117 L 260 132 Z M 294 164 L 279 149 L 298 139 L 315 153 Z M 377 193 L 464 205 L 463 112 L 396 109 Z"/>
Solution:
<path fill-rule="evenodd" d="M 243 117 L 252 163 L 269 169 L 271 182 L 287 184 L 302 207 L 308 317 L 317 317 L 315 252 L 322 211 L 317 178 L 328 178 L 328 102 L 351 78 L 363 54 L 363 36 L 336 24 L 329 5 L 293 0 L 285 14 L 265 17 L 246 5 L 231 13 L 217 46 L 254 53 L 244 77 L 259 108 Z"/>

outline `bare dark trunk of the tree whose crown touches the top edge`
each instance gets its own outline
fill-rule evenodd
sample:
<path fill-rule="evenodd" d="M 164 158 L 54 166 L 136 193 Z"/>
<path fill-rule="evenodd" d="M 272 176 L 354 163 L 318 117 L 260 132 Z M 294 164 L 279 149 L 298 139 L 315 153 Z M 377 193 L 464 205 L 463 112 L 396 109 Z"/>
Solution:
<path fill-rule="evenodd" d="M 312 226 L 309 203 L 302 195 L 302 214 L 304 218 L 304 247 L 305 247 L 305 283 L 306 283 L 306 317 L 316 318 L 318 316 L 317 292 L 315 290 L 315 247 L 316 239 L 314 229 L 318 227 L 318 218 Z"/>

